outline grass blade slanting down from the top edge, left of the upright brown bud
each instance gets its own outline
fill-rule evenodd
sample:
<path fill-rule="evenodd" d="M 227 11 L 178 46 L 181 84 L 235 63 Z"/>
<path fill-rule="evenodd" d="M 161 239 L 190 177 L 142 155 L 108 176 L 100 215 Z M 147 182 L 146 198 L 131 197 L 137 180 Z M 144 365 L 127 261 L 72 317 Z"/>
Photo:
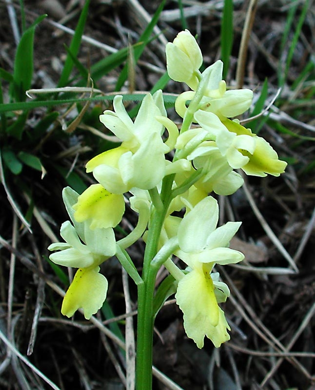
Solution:
<path fill-rule="evenodd" d="M 77 57 L 77 55 L 79 53 L 83 30 L 84 30 L 86 18 L 88 15 L 89 4 L 90 4 L 90 0 L 87 0 L 84 4 L 84 7 L 82 8 L 81 15 L 79 17 L 79 21 L 78 21 L 75 33 L 74 33 L 74 36 L 72 38 L 72 41 L 71 41 L 71 44 L 69 47 L 69 50 L 72 53 L 72 56 L 74 56 L 74 57 Z M 71 71 L 72 71 L 73 65 L 74 65 L 72 56 L 70 56 L 68 53 L 67 58 L 66 58 L 65 63 L 64 63 L 64 66 L 63 66 L 63 70 L 62 70 L 60 79 L 59 79 L 58 87 L 64 87 L 68 83 L 68 80 L 69 80 L 69 77 L 70 77 L 70 74 L 71 74 Z"/>

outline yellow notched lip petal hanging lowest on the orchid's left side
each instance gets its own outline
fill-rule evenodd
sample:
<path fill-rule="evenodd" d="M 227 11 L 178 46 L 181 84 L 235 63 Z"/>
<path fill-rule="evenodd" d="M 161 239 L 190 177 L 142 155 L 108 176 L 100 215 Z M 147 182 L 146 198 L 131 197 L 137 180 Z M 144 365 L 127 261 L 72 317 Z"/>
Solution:
<path fill-rule="evenodd" d="M 62 302 L 61 313 L 71 317 L 83 309 L 84 317 L 91 318 L 106 299 L 108 282 L 96 268 L 79 268 Z"/>

